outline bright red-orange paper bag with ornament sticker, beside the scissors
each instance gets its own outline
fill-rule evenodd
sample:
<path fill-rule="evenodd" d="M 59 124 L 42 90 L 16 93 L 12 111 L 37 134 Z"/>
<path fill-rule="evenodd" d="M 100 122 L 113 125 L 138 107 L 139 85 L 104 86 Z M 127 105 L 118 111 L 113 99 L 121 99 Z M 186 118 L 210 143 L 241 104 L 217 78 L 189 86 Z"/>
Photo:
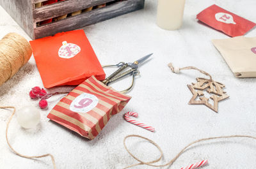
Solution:
<path fill-rule="evenodd" d="M 58 33 L 30 44 L 45 88 L 79 85 L 92 75 L 98 80 L 105 78 L 83 30 Z"/>

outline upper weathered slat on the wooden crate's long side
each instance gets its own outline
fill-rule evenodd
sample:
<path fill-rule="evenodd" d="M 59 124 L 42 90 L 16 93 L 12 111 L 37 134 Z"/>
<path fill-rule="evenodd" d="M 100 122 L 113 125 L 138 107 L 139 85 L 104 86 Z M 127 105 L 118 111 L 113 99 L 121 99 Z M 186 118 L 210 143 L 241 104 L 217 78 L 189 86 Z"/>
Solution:
<path fill-rule="evenodd" d="M 74 11 L 84 10 L 92 6 L 111 2 L 113 0 L 67 0 L 49 4 L 33 10 L 34 22 L 60 17 Z"/>

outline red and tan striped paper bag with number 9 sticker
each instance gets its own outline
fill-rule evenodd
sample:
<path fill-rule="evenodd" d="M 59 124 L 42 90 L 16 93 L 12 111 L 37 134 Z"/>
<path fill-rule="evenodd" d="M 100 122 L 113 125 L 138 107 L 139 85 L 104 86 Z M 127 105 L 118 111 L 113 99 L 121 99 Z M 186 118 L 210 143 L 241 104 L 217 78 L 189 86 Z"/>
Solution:
<path fill-rule="evenodd" d="M 47 117 L 92 140 L 130 99 L 90 77 L 62 98 Z"/>

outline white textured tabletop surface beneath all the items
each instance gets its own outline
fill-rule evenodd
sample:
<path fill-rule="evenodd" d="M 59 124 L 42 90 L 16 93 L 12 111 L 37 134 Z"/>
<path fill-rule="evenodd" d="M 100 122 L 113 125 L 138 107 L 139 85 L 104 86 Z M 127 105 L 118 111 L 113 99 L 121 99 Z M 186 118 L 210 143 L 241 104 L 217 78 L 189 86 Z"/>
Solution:
<path fill-rule="evenodd" d="M 173 158 L 186 144 L 198 138 L 221 135 L 256 135 L 255 78 L 238 79 L 211 43 L 213 38 L 228 38 L 225 34 L 198 24 L 196 14 L 211 4 L 217 4 L 237 15 L 255 20 L 255 0 L 189 0 L 184 12 L 184 25 L 179 31 L 164 31 L 156 26 L 157 1 L 146 0 L 145 9 L 113 18 L 84 28 L 102 64 L 134 61 L 154 52 L 153 59 L 140 68 L 141 77 L 129 93 L 131 101 L 108 123 L 92 141 L 50 122 L 46 115 L 58 101 L 52 98 L 48 110 L 41 111 L 41 123 L 35 130 L 19 127 L 16 119 L 10 126 L 10 143 L 22 154 L 52 153 L 58 169 L 124 168 L 136 163 L 123 147 L 129 134 L 143 135 L 159 143 L 164 161 Z M 28 36 L 10 16 L 0 8 L 0 36 L 15 31 Z M 256 36 L 256 30 L 246 36 Z M 230 99 L 222 101 L 216 114 L 203 105 L 188 105 L 191 92 L 186 84 L 200 76 L 196 71 L 172 73 L 168 62 L 175 66 L 196 66 L 211 73 L 214 80 L 226 85 Z M 117 89 L 124 82 L 115 84 Z M 29 99 L 31 87 L 42 86 L 35 60 L 31 60 L 17 75 L 0 87 L 0 105 L 37 105 Z M 119 88 L 118 88 L 119 87 Z M 58 87 L 54 91 L 69 91 L 72 87 Z M 124 121 L 127 111 L 138 112 L 138 121 L 156 128 L 156 133 L 138 128 Z M 0 110 L 0 168 L 52 168 L 51 159 L 25 159 L 13 154 L 4 137 L 9 111 Z M 157 156 L 156 148 L 144 142 L 129 140 L 128 146 L 141 159 Z M 135 140 L 136 141 L 136 140 Z M 250 139 L 216 140 L 199 144 L 180 156 L 173 166 L 181 168 L 208 159 L 204 168 L 255 168 L 256 142 Z M 150 156 L 150 158 L 148 158 Z M 152 156 L 152 157 L 151 157 Z M 137 166 L 134 168 L 151 168 Z"/>

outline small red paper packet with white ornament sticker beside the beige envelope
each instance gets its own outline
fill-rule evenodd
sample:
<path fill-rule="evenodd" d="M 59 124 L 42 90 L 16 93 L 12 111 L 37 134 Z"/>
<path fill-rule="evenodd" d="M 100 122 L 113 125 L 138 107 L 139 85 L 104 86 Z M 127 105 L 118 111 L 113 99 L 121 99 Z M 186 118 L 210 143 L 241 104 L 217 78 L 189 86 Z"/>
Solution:
<path fill-rule="evenodd" d="M 196 18 L 231 37 L 242 36 L 256 25 L 215 4 L 201 11 Z"/>

